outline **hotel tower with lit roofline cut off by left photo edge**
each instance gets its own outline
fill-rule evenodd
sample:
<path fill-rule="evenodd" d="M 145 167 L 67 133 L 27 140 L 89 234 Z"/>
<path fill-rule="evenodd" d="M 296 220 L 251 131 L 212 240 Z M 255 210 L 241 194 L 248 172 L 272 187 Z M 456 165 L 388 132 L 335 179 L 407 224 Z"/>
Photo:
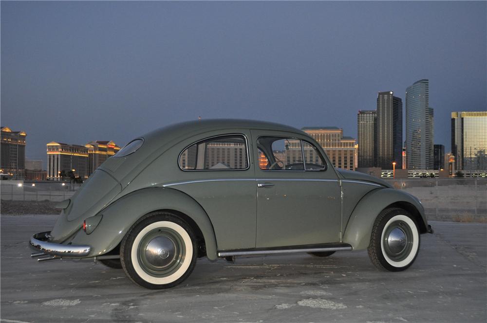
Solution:
<path fill-rule="evenodd" d="M 25 176 L 25 137 L 24 131 L 12 131 L 1 127 L 0 173 L 11 175 L 14 179 Z"/>

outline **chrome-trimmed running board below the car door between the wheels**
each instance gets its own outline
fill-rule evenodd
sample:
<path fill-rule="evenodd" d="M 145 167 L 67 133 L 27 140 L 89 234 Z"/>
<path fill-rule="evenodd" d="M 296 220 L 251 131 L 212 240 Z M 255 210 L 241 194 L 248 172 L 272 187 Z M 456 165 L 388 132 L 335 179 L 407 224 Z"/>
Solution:
<path fill-rule="evenodd" d="M 219 251 L 219 257 L 228 256 L 256 256 L 261 254 L 286 254 L 300 252 L 350 251 L 352 246 L 348 243 L 326 243 L 321 245 L 292 246 L 281 248 L 255 248 L 240 250 Z"/>

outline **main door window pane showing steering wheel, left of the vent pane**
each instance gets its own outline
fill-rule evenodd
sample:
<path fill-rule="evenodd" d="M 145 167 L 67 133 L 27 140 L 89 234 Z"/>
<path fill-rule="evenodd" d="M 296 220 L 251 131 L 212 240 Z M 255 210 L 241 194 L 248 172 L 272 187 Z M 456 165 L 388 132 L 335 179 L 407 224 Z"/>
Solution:
<path fill-rule="evenodd" d="M 260 137 L 257 147 L 263 170 L 304 170 L 299 139 Z"/>

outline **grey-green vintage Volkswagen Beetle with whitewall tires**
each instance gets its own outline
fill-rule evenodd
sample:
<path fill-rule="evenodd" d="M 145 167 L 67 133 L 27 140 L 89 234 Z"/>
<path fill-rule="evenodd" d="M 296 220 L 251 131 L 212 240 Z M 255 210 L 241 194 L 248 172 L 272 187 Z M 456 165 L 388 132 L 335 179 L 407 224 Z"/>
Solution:
<path fill-rule="evenodd" d="M 432 232 L 421 202 L 387 182 L 333 167 L 290 126 L 180 123 L 135 138 L 104 162 L 34 234 L 38 260 L 95 258 L 136 284 L 173 287 L 196 259 L 368 249 L 404 270 Z"/>

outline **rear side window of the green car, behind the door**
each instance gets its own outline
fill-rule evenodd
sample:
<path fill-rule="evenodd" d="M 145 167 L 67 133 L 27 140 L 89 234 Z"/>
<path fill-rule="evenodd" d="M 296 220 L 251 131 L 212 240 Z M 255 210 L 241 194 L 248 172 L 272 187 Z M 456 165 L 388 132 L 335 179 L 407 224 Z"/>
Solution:
<path fill-rule="evenodd" d="M 208 138 L 187 147 L 179 155 L 183 170 L 247 169 L 247 144 L 243 135 Z"/>

